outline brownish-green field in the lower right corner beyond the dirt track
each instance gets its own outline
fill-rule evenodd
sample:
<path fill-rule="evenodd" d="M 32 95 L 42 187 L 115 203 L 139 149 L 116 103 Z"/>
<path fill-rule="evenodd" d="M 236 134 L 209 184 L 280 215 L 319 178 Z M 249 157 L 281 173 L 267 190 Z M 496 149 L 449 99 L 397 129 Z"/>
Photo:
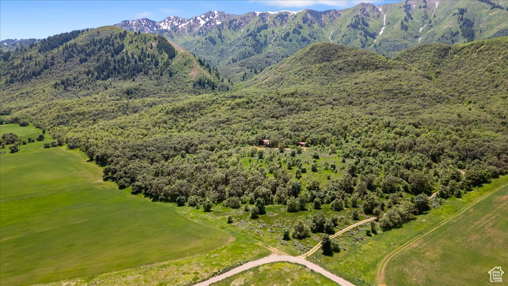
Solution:
<path fill-rule="evenodd" d="M 508 185 L 397 253 L 387 285 L 486 285 L 508 269 Z M 506 270 L 504 270 L 506 271 Z"/>

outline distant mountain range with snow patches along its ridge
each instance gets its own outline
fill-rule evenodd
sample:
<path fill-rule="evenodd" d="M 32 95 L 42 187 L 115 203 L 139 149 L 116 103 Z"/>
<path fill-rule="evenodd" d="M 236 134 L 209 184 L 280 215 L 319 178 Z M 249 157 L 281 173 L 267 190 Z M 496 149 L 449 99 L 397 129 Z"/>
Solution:
<path fill-rule="evenodd" d="M 315 42 L 332 42 L 393 56 L 424 43 L 465 43 L 508 36 L 501 1 L 405 0 L 358 4 L 344 10 L 209 11 L 190 19 L 170 16 L 123 21 L 128 31 L 164 35 L 206 59 L 221 73 L 246 80 Z"/>

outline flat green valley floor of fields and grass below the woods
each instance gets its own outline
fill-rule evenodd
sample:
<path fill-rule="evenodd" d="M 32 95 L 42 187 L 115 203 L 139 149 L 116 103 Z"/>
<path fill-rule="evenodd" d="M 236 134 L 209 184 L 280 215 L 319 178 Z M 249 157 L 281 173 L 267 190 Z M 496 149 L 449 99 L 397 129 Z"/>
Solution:
<path fill-rule="evenodd" d="M 7 130 L 21 136 L 35 136 L 39 132 L 34 128 L 4 127 L 2 132 Z M 267 215 L 250 220 L 243 210 L 220 205 L 204 213 L 191 207 L 153 203 L 141 195 L 118 190 L 112 182 L 104 182 L 102 169 L 86 162 L 79 151 L 65 147 L 43 149 L 46 141 L 49 140 L 22 145 L 19 153 L 1 155 L 3 283 L 61 280 L 52 285 L 62 282 L 188 285 L 210 277 L 216 279 L 217 275 L 241 265 L 231 273 L 233 276 L 227 275 L 229 278 L 218 284 L 227 281 L 236 281 L 238 285 L 262 284 L 274 275 L 287 278 L 289 284 L 299 284 L 302 277 L 318 281 L 316 284 L 332 283 L 325 276 L 300 266 L 273 263 L 280 261 L 273 258 L 282 257 L 286 251 L 301 254 L 303 251 L 295 249 L 309 250 L 320 241 L 316 235 L 303 242 L 292 239 L 287 243 L 278 238 L 291 221 L 308 219 L 307 212 L 287 213 L 281 211 L 283 206 L 271 205 L 267 206 Z M 309 261 L 303 264 L 309 264 L 311 269 L 324 268 L 321 272 L 334 279 L 338 275 L 362 285 L 379 281 L 376 270 L 389 257 L 385 264 L 388 265 L 387 284 L 394 281 L 428 284 L 436 282 L 432 279 L 439 279 L 436 273 L 446 268 L 442 263 L 454 264 L 446 259 L 449 257 L 453 261 L 465 261 L 465 264 L 455 263 L 457 269 L 473 267 L 467 272 L 468 279 L 480 282 L 478 277 L 485 272 L 482 267 L 490 265 L 488 260 L 497 263 L 507 259 L 498 255 L 507 245 L 499 231 L 506 228 L 503 214 L 507 183 L 508 176 L 492 180 L 462 198 L 447 199 L 401 228 L 372 236 L 364 235 L 368 225 L 346 228 L 354 222 L 342 219 L 339 227 L 345 231 L 335 240 L 345 249 L 333 256 L 320 256 L 319 262 L 309 257 L 312 264 Z M 348 215 L 351 209 L 346 212 Z M 321 211 L 327 216 L 333 214 L 328 205 L 323 205 Z M 228 215 L 234 218 L 233 224 L 226 223 Z M 280 227 L 274 226 L 281 223 Z M 487 235 L 480 236 L 485 229 Z M 463 239 L 457 239 L 457 234 Z M 404 245 L 409 246 L 397 251 Z M 491 251 L 484 251 L 488 245 L 492 246 L 489 246 Z M 397 254 L 391 255 L 394 251 Z M 409 264 L 406 263 L 408 256 L 413 258 Z M 285 261 L 293 263 L 301 262 L 295 259 L 303 259 L 288 258 Z M 242 272 L 249 268 L 250 264 L 245 263 L 259 259 L 271 264 Z M 485 263 L 475 264 L 476 261 Z M 408 271 L 416 271 L 418 275 L 406 281 L 400 276 Z M 430 277 L 428 273 L 434 274 Z M 347 285 L 348 281 L 342 284 Z"/>

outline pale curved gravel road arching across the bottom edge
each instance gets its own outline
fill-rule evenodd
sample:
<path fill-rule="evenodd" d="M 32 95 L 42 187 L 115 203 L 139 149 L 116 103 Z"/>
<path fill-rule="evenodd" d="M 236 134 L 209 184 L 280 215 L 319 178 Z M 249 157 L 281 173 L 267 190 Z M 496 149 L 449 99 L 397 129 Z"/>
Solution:
<path fill-rule="evenodd" d="M 248 263 L 245 263 L 244 265 L 241 265 L 237 268 L 234 268 L 226 273 L 223 273 L 223 274 L 220 274 L 218 276 L 215 276 L 215 277 L 212 277 L 206 281 L 203 281 L 203 282 L 200 282 L 198 284 L 195 284 L 195 286 L 207 286 L 207 285 L 210 285 L 211 283 L 214 283 L 214 282 L 217 282 L 217 281 L 220 281 L 220 280 L 223 280 L 225 278 L 228 278 L 230 276 L 233 276 L 235 274 L 238 274 L 240 272 L 243 272 L 245 270 L 248 270 L 250 268 L 253 268 L 253 267 L 257 267 L 257 266 L 260 266 L 260 265 L 263 265 L 263 264 L 267 264 L 267 263 L 274 263 L 274 262 L 290 262 L 290 263 L 296 263 L 296 264 L 300 264 L 300 265 L 303 265 L 305 267 L 307 267 L 308 269 L 314 271 L 314 272 L 317 272 L 317 273 L 321 273 L 323 274 L 325 277 L 327 277 L 328 279 L 334 281 L 334 282 L 337 282 L 339 285 L 342 285 L 342 286 L 355 286 L 355 284 L 351 283 L 350 281 L 347 281 L 345 280 L 344 278 L 341 278 L 327 270 L 325 270 L 324 268 L 322 268 L 321 266 L 319 265 L 316 265 L 316 264 L 313 264 L 312 262 L 310 261 L 307 261 L 301 257 L 295 257 L 295 256 L 291 256 L 291 255 L 270 255 L 270 256 L 266 256 L 262 259 L 258 259 L 258 260 L 255 260 L 255 261 L 251 261 L 251 262 L 248 262 Z"/>

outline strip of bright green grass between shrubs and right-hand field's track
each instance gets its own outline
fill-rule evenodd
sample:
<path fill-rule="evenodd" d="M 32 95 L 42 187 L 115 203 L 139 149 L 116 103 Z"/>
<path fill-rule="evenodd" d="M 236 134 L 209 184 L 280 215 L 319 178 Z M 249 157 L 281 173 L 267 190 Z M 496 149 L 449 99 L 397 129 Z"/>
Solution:
<path fill-rule="evenodd" d="M 455 197 L 447 199 L 443 205 L 417 216 L 403 224 L 401 228 L 395 228 L 372 237 L 364 235 L 363 228 L 369 228 L 368 225 L 359 227 L 359 230 L 352 230 L 340 238 L 336 238 L 341 242 L 341 245 L 346 247 L 346 250 L 323 258 L 322 265 L 329 271 L 359 285 L 364 284 L 363 280 L 366 283 L 374 284 L 376 283 L 377 267 L 385 256 L 507 183 L 508 176 L 492 180 L 492 183 L 469 192 L 460 199 Z M 460 240 L 460 237 L 454 238 L 451 243 L 457 240 Z M 358 277 L 361 277 L 362 280 L 359 280 Z M 396 284 L 398 285 L 398 283 Z"/>

